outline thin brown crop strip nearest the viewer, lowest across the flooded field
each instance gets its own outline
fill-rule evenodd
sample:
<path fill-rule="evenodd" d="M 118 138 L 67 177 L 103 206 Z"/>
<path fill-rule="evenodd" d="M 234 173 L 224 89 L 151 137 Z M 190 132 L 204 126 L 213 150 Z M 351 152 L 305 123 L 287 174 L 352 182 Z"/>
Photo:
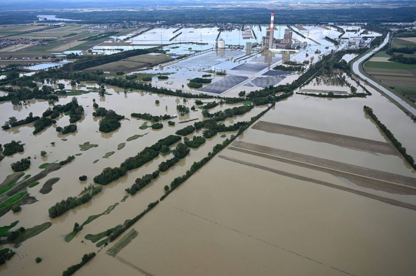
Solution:
<path fill-rule="evenodd" d="M 379 200 L 381 202 L 389 203 L 391 205 L 395 205 L 395 206 L 398 206 L 398 207 L 403 207 L 403 208 L 407 208 L 407 209 L 411 209 L 411 210 L 416 211 L 416 205 L 413 205 L 413 204 L 401 202 L 401 201 L 398 201 L 398 200 L 393 200 L 393 199 L 390 199 L 390 198 L 387 198 L 387 197 L 381 197 L 381 196 L 378 196 L 378 195 L 373 195 L 373 194 L 370 194 L 368 192 L 362 192 L 362 191 L 359 191 L 359 190 L 354 190 L 354 189 L 349 188 L 349 187 L 344 187 L 344 186 L 332 184 L 332 183 L 329 183 L 329 182 L 324 182 L 324 181 L 321 181 L 321 180 L 313 179 L 313 178 L 310 178 L 310 177 L 305 177 L 305 176 L 302 176 L 302 175 L 295 175 L 293 173 L 287 173 L 287 172 L 284 172 L 282 170 L 276 170 L 276 169 L 273 169 L 273 168 L 268 168 L 268 167 L 265 167 L 265 166 L 262 166 L 262 165 L 249 163 L 249 162 L 246 162 L 246 161 L 243 161 L 243 160 L 230 158 L 230 157 L 227 157 L 227 156 L 224 156 L 224 155 L 218 155 L 218 157 L 222 158 L 222 159 L 225 159 L 225 160 L 235 162 L 235 163 L 250 166 L 250 167 L 253 167 L 253 168 L 258 168 L 260 170 L 266 170 L 266 171 L 269 171 L 269 172 L 272 172 L 272 173 L 276 173 L 278 175 L 292 177 L 292 178 L 295 178 L 295 179 L 298 179 L 298 180 L 302 180 L 302 181 L 306 181 L 306 182 L 312 182 L 312 183 L 315 183 L 315 184 L 335 188 L 335 189 L 338 189 L 338 190 L 351 192 L 351 193 L 356 194 L 356 195 L 362 195 L 364 197 L 369 197 L 369 198 L 372 198 L 374 200 Z"/>

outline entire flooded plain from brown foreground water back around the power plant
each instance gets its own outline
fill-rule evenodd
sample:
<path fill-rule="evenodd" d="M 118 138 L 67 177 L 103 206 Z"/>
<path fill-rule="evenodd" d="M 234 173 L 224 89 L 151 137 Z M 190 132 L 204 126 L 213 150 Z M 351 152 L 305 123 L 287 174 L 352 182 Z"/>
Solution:
<path fill-rule="evenodd" d="M 283 33 L 286 26 L 277 28 L 275 34 Z M 173 30 L 153 29 L 129 42 L 168 44 Z M 253 30 L 258 38 L 265 34 L 265 27 L 261 32 L 258 26 L 253 26 Z M 302 73 L 278 71 L 273 67 L 286 61 L 309 61 L 303 65 L 308 70 L 323 54 L 339 50 L 323 39 L 338 37 L 340 33 L 331 27 L 297 26 L 297 30 L 308 36 L 310 45 L 294 54 L 213 50 L 128 74 L 149 74 L 152 78 L 146 83 L 156 87 L 232 97 L 237 97 L 240 91 L 248 93 L 269 85 L 291 83 Z M 208 50 L 218 35 L 215 28 L 183 28 L 179 32 L 182 34 L 176 40 L 185 41 L 186 37 L 187 42 L 206 44 L 164 46 L 173 57 Z M 220 34 L 226 44 L 255 42 L 254 38 L 243 40 L 241 36 L 239 30 Z M 295 33 L 293 37 L 301 39 Z M 102 47 L 94 47 L 94 51 L 120 49 Z M 354 56 L 343 58 L 352 60 Z M 215 75 L 215 71 L 225 71 L 226 75 Z M 168 79 L 158 79 L 161 73 Z M 30 74 L 33 73 L 27 75 Z M 203 84 L 201 89 L 187 87 L 190 79 L 202 78 L 203 74 L 211 74 L 206 77 L 212 79 L 211 83 Z M 115 73 L 107 76 L 124 77 Z M 104 85 L 106 94 L 100 97 L 100 86 L 94 81 L 81 81 L 76 86 L 71 86 L 69 80 L 60 79 L 58 83 L 64 84 L 67 95 L 60 95 L 55 105 L 69 103 L 75 95 L 84 108 L 81 119 L 72 123 L 77 126 L 76 131 L 57 132 L 70 125 L 66 113 L 55 118 L 55 125 L 36 134 L 33 134 L 34 123 L 0 131 L 2 145 L 11 140 L 24 143 L 23 152 L 0 161 L 0 183 L 13 173 L 10 165 L 21 158 L 30 157 L 31 165 L 23 171 L 20 180 L 29 181 L 30 177 L 47 170 L 46 176 L 36 178 L 22 192 L 14 193 L 15 187 L 22 185 L 20 180 L 10 184 L 12 187 L 8 190 L 1 190 L 0 204 L 8 204 L 7 200 L 15 196 L 25 197 L 26 204 L 21 205 L 20 211 L 1 215 L 0 227 L 16 221 L 10 231 L 47 226 L 40 234 L 21 243 L 0 245 L 0 249 L 17 252 L 0 266 L 1 274 L 25 275 L 27 271 L 33 276 L 45 275 L 45 271 L 61 274 L 89 252 L 97 256 L 76 275 L 414 274 L 416 170 L 364 112 L 363 106 L 373 108 L 379 120 L 412 156 L 416 156 L 416 123 L 371 87 L 365 86 L 372 95 L 363 98 L 293 94 L 277 102 L 107 245 L 108 229 L 122 227 L 148 208 L 149 203 L 159 200 L 165 195 L 165 185 L 187 174 L 195 162 L 209 156 L 215 145 L 238 130 L 216 133 L 198 148 L 189 147 L 186 157 L 160 172 L 136 193 L 128 193 L 137 184 L 137 178 L 155 172 L 162 162 L 173 158 L 172 150 L 179 142 L 185 137 L 202 136 L 203 130 L 181 136 L 181 141 L 170 145 L 166 153 L 158 154 L 107 185 L 94 184 L 94 176 L 104 168 L 118 167 L 158 140 L 206 120 L 203 105 L 218 99 L 190 99 L 110 85 Z M 357 93 L 365 92 L 354 79 L 334 70 L 294 92 L 327 94 L 332 91 L 349 95 L 351 85 L 357 87 Z M 58 89 L 57 84 L 54 88 Z M 0 96 L 6 94 L 0 92 Z M 203 103 L 198 105 L 197 100 Z M 97 112 L 94 102 L 125 116 L 120 120 L 121 126 L 108 133 L 99 131 L 102 117 L 92 115 Z M 42 116 L 53 106 L 40 99 L 26 103 L 19 106 L 10 101 L 0 102 L 0 121 L 8 121 L 12 116 L 24 119 L 29 113 Z M 251 101 L 218 104 L 209 112 L 249 104 Z M 196 108 L 181 115 L 178 105 Z M 243 115 L 218 123 L 229 126 L 250 121 L 267 108 L 267 105 L 254 106 Z M 138 119 L 131 113 L 167 114 L 171 118 L 159 121 L 162 128 L 153 129 L 151 125 L 155 122 Z M 174 124 L 168 123 L 170 120 Z M 45 150 L 45 156 L 41 156 L 41 150 Z M 69 163 L 56 164 L 72 155 L 74 160 Z M 82 175 L 87 180 L 80 180 Z M 80 195 L 90 183 L 102 187 L 102 191 L 60 216 L 48 215 L 48 209 L 56 202 Z M 82 225 L 78 232 L 74 230 L 75 223 Z M 36 257 L 41 257 L 42 262 L 37 264 Z"/>

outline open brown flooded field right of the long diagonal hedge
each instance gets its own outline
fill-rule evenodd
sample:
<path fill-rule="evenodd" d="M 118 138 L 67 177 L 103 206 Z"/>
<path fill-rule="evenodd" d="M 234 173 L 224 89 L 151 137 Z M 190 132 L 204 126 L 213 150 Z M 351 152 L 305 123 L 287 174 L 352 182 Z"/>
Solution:
<path fill-rule="evenodd" d="M 376 92 L 366 99 L 294 95 L 277 103 L 261 120 L 388 142 L 362 110 L 364 104 L 374 108 L 411 154 L 416 153 L 411 143 L 414 123 Z M 145 275 L 413 274 L 411 252 L 415 253 L 416 240 L 410 237 L 416 230 L 416 213 L 408 207 L 415 207 L 415 195 L 368 183 L 370 178 L 397 174 L 406 178 L 401 187 L 414 185 L 416 172 L 401 156 L 293 138 L 254 126 L 237 141 L 134 224 L 131 228 L 137 236 L 114 257 L 100 253 L 80 275 L 117 271 L 125 275 L 137 271 Z M 235 150 L 248 148 L 244 143 L 250 143 L 250 150 Z M 267 156 L 257 154 L 262 151 L 258 145 L 269 147 L 263 154 Z M 273 160 L 270 148 L 291 154 Z M 333 160 L 336 171 L 325 173 L 302 165 L 312 160 L 285 161 L 297 153 L 318 158 L 319 166 L 324 165 L 319 158 Z M 357 166 L 366 169 L 354 169 L 355 174 L 370 178 L 357 180 L 336 173 Z M 369 174 L 372 170 L 380 175 Z M 387 181 L 399 180 L 396 176 Z M 357 250 L 365 254 L 357 255 Z"/>

